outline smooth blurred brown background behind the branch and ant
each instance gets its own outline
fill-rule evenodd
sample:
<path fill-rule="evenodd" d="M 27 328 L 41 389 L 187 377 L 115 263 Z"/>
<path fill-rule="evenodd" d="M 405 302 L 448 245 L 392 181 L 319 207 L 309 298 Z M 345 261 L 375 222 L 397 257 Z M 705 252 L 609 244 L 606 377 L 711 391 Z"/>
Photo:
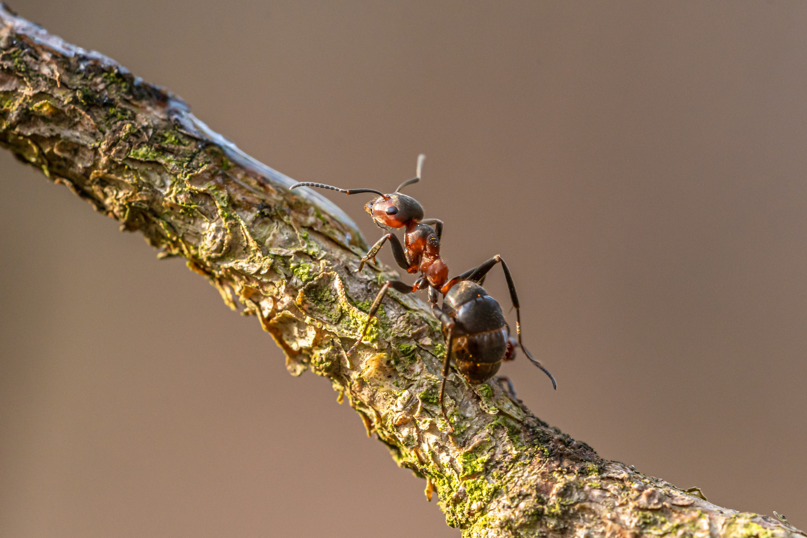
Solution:
<path fill-rule="evenodd" d="M 804 2 L 12 7 L 299 181 L 389 190 L 427 153 L 453 272 L 516 277 L 559 383 L 505 365 L 537 415 L 807 527 Z M 255 319 L 0 170 L 0 536 L 459 535 Z"/>

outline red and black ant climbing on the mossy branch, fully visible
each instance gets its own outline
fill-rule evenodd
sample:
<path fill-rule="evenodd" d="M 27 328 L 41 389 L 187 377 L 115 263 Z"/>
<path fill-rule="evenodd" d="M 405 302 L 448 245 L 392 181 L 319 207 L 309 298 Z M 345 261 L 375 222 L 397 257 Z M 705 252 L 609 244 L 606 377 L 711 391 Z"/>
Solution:
<path fill-rule="evenodd" d="M 442 332 L 445 336 L 446 351 L 443 364 L 443 380 L 440 387 L 440 405 L 443 418 L 449 423 L 445 413 L 445 380 L 449 375 L 451 357 L 462 373 L 462 376 L 472 385 L 486 382 L 499 371 L 502 361 L 512 361 L 516 351 L 516 344 L 525 353 L 529 361 L 540 368 L 552 381 L 552 386 L 558 385 L 549 371 L 537 361 L 521 342 L 521 309 L 516 294 L 516 286 L 512 282 L 510 269 L 501 256 L 493 256 L 479 267 L 470 269 L 461 275 L 449 280 L 449 268 L 440 257 L 440 239 L 443 223 L 440 219 L 424 219 L 423 207 L 415 198 L 401 194 L 403 187 L 420 181 L 425 155 L 417 157 L 416 176 L 403 181 L 394 193 L 384 194 L 374 189 L 339 189 L 322 183 L 302 182 L 295 183 L 291 189 L 297 187 L 319 187 L 320 189 L 336 190 L 345 194 L 378 194 L 378 198 L 367 202 L 365 211 L 370 214 L 378 227 L 405 228 L 403 245 L 395 234 L 387 233 L 370 248 L 366 256 L 362 257 L 358 271 L 361 271 L 367 261 L 375 262 L 378 251 L 389 241 L 395 262 L 405 269 L 407 273 L 420 273 L 414 284 L 409 285 L 399 280 L 391 280 L 381 286 L 378 295 L 370 307 L 362 336 L 349 349 L 348 355 L 356 351 L 358 345 L 364 340 L 370 321 L 378 311 L 387 290 L 392 288 L 402 294 L 412 294 L 417 290 L 429 289 L 429 302 L 432 305 L 433 315 L 440 320 Z M 433 227 L 432 227 L 433 225 Z M 482 284 L 487 273 L 496 264 L 501 264 L 504 278 L 507 280 L 512 306 L 516 309 L 516 339 L 510 336 L 510 327 L 504 321 L 504 314 L 498 302 L 483 289 Z M 439 295 L 443 296 L 442 308 L 437 307 Z M 508 383 L 511 394 L 512 383 Z"/>

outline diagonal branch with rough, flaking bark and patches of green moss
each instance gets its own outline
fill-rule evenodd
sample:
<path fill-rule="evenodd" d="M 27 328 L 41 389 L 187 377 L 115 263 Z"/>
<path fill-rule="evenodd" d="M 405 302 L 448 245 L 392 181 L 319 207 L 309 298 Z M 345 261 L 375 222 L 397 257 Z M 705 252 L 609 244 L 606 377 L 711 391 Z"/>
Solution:
<path fill-rule="evenodd" d="M 423 302 L 391 292 L 358 355 L 345 355 L 394 273 L 356 271 L 366 244 L 337 206 L 291 192 L 114 60 L 6 6 L 0 19 L 0 144 L 257 315 L 291 373 L 327 377 L 463 536 L 807 536 L 605 461 L 496 382 L 450 375 L 449 432 L 437 402 L 444 340 Z"/>

